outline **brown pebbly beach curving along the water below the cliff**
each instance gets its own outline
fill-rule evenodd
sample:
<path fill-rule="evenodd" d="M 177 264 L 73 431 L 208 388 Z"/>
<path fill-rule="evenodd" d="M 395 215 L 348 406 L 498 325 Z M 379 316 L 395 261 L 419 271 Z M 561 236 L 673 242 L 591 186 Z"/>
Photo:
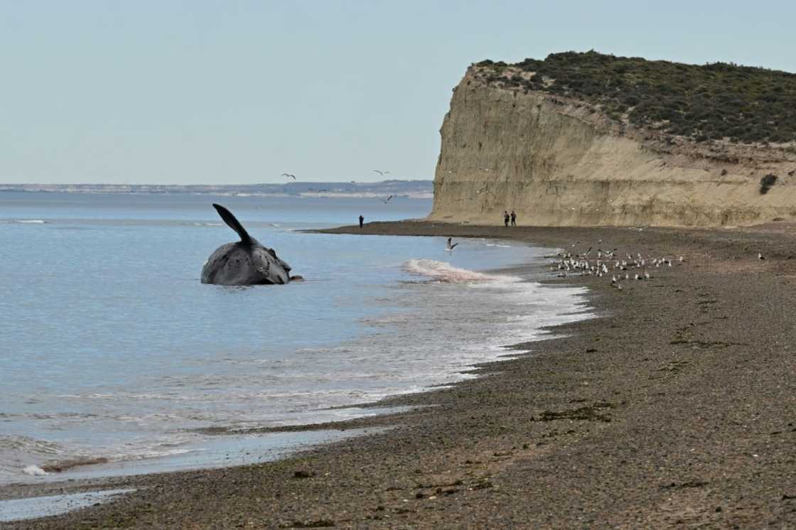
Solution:
<path fill-rule="evenodd" d="M 622 290 L 551 276 L 590 286 L 600 318 L 518 345 L 531 353 L 484 377 L 388 400 L 411 411 L 336 426 L 389 431 L 253 466 L 4 489 L 137 489 L 4 528 L 794 528 L 793 226 L 337 232 L 604 244 L 685 263 Z"/>

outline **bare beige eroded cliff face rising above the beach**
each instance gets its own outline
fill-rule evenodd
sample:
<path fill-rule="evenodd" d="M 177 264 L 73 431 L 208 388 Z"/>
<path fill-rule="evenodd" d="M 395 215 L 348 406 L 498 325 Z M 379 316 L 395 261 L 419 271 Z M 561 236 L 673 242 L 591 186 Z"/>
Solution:
<path fill-rule="evenodd" d="M 727 226 L 796 220 L 796 154 L 698 144 L 587 103 L 489 83 L 471 67 L 445 117 L 429 220 Z M 775 175 L 767 193 L 761 178 Z"/>

